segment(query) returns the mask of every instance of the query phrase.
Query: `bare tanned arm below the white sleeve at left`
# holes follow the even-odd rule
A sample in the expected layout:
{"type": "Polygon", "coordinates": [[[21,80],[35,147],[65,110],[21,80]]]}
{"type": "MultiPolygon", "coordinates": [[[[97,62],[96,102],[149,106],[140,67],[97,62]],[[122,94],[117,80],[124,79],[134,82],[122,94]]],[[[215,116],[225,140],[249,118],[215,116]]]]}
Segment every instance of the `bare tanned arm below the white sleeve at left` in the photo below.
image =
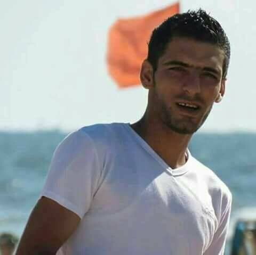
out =
{"type": "Polygon", "coordinates": [[[74,212],[43,196],[31,212],[15,255],[55,255],[79,221],[74,212]]]}

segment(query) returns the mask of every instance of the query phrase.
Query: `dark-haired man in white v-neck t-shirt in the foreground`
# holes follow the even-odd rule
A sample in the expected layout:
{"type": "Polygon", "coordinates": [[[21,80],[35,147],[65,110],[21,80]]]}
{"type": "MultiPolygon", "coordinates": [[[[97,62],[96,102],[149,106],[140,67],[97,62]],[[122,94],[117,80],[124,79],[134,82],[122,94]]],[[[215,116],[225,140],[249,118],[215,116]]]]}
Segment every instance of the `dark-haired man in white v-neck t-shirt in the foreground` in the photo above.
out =
{"type": "Polygon", "coordinates": [[[64,139],[17,255],[223,254],[231,193],[188,144],[225,93],[229,57],[203,10],[157,27],[140,74],[145,114],[64,139]]]}

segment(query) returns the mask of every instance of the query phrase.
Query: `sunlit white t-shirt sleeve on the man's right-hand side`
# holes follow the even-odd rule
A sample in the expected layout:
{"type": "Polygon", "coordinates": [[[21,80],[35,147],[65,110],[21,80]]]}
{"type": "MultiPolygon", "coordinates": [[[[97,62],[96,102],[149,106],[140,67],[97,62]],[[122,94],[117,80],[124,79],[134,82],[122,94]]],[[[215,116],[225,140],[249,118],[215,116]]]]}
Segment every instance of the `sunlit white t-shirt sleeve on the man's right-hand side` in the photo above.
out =
{"type": "Polygon", "coordinates": [[[231,212],[231,193],[226,196],[226,201],[222,201],[226,206],[224,207],[223,213],[221,215],[217,231],[213,236],[213,240],[204,252],[204,255],[223,255],[225,252],[225,245],[228,235],[230,212],[231,212]]]}

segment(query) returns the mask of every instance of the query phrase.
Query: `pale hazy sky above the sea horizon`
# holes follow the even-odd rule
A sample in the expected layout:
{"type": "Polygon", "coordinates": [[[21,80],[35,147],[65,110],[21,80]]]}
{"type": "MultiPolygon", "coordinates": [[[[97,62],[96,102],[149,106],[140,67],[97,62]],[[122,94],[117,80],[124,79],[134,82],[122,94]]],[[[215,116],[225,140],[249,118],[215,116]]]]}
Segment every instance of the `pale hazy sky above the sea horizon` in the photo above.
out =
{"type": "MultiPolygon", "coordinates": [[[[134,122],[146,109],[142,86],[119,89],[108,75],[108,31],[118,18],[176,1],[0,0],[0,130],[72,131],[134,122]]],[[[256,131],[254,0],[181,0],[225,29],[231,61],[223,101],[200,131],[256,131]]]]}

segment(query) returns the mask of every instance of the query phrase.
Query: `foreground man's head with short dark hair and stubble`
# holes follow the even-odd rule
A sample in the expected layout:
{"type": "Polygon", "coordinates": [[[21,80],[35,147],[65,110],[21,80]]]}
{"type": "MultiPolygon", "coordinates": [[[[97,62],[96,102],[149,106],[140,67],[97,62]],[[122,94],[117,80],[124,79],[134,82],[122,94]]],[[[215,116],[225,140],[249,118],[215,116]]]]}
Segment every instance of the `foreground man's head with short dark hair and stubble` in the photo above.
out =
{"type": "Polygon", "coordinates": [[[225,93],[228,38],[204,11],[177,14],[157,27],[142,63],[147,111],[176,133],[193,134],[225,93]]]}

